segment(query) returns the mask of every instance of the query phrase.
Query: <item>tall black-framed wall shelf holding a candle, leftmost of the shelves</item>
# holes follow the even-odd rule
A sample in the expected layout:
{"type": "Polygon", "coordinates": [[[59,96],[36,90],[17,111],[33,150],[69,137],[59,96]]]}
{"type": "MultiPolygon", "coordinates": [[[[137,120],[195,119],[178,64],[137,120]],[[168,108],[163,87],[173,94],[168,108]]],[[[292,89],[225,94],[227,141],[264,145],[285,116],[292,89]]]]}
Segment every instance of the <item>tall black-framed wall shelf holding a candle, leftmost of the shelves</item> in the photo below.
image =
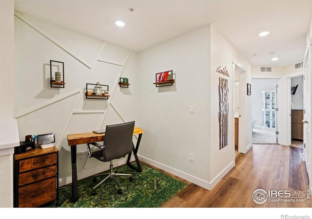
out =
{"type": "Polygon", "coordinates": [[[51,88],[65,88],[64,62],[50,60],[50,86],[51,88]]]}

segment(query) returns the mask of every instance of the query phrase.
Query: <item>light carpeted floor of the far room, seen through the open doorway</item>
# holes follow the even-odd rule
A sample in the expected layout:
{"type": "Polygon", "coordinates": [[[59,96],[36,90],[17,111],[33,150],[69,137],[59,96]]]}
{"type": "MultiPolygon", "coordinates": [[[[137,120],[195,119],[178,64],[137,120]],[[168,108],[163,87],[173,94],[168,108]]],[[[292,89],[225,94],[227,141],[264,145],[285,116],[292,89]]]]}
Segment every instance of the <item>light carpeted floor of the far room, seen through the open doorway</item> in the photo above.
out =
{"type": "Polygon", "coordinates": [[[276,144],[275,130],[253,128],[253,144],[276,144]]]}

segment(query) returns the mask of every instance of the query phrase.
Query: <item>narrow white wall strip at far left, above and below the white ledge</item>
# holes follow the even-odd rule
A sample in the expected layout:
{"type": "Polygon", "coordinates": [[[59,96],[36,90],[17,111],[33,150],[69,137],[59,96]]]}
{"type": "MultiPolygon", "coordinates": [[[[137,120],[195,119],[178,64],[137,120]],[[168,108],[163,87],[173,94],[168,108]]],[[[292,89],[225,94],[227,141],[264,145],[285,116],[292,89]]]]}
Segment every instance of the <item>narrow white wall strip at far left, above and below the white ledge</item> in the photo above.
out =
{"type": "MultiPolygon", "coordinates": [[[[14,1],[11,0],[0,1],[0,48],[0,120],[13,120],[14,1]]],[[[0,207],[13,207],[13,148],[9,149],[0,148],[0,207]]]]}

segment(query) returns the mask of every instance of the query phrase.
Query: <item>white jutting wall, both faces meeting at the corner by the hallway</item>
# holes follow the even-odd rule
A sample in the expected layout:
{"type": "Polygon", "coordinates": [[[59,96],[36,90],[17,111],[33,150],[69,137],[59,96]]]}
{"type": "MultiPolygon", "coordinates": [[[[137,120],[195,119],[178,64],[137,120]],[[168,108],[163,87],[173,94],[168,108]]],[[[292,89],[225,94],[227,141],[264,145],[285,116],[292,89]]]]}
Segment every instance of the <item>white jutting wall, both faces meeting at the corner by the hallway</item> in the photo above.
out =
{"type": "MultiPolygon", "coordinates": [[[[175,37],[139,53],[141,123],[147,132],[139,155],[193,183],[211,189],[234,166],[234,73],[236,62],[251,83],[251,65],[211,25],[175,37]],[[229,145],[219,150],[219,66],[228,67],[229,145]],[[155,73],[173,70],[176,84],[155,88],[155,73]],[[146,83],[150,81],[150,83],[146,83]],[[209,86],[207,86],[207,84],[209,86]],[[189,113],[189,106],[195,113],[189,113]],[[152,113],[151,113],[152,112],[152,113]],[[189,161],[189,153],[195,162],[189,161]],[[201,166],[202,168],[198,168],[201,166]]],[[[251,97],[243,101],[245,148],[252,145],[251,97]]]]}

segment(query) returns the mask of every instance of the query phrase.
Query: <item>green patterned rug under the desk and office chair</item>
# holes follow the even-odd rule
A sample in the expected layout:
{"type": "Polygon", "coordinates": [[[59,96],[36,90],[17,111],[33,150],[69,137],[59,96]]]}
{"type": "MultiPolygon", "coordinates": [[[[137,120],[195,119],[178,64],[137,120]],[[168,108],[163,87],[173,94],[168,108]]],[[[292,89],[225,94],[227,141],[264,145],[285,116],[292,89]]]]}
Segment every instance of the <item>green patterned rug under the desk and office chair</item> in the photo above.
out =
{"type": "MultiPolygon", "coordinates": [[[[133,174],[132,182],[129,181],[129,177],[117,176],[123,192],[121,195],[117,193],[118,188],[112,178],[96,188],[97,194],[95,196],[91,194],[93,186],[100,182],[102,177],[98,177],[96,183],[93,182],[93,177],[78,181],[79,200],[76,203],[71,201],[72,186],[60,188],[60,207],[161,207],[188,186],[187,183],[146,165],[141,164],[141,167],[141,173],[126,165],[117,169],[119,173],[133,174]]],[[[43,207],[57,207],[56,201],[43,207]]]]}

